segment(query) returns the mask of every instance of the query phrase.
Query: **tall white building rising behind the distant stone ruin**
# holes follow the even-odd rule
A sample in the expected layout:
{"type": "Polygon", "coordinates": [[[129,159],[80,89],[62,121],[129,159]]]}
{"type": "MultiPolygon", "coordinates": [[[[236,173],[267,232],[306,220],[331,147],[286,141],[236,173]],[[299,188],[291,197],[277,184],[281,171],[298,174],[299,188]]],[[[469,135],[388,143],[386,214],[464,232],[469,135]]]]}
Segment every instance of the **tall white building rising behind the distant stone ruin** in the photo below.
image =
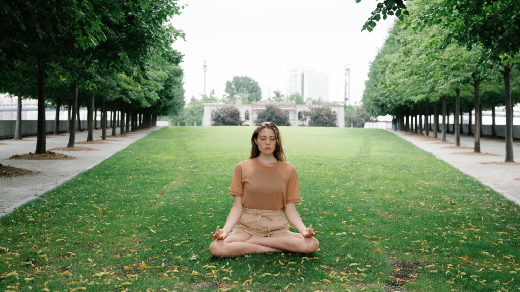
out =
{"type": "Polygon", "coordinates": [[[287,95],[298,92],[304,99],[329,100],[329,74],[315,69],[292,65],[287,73],[287,95]]]}

